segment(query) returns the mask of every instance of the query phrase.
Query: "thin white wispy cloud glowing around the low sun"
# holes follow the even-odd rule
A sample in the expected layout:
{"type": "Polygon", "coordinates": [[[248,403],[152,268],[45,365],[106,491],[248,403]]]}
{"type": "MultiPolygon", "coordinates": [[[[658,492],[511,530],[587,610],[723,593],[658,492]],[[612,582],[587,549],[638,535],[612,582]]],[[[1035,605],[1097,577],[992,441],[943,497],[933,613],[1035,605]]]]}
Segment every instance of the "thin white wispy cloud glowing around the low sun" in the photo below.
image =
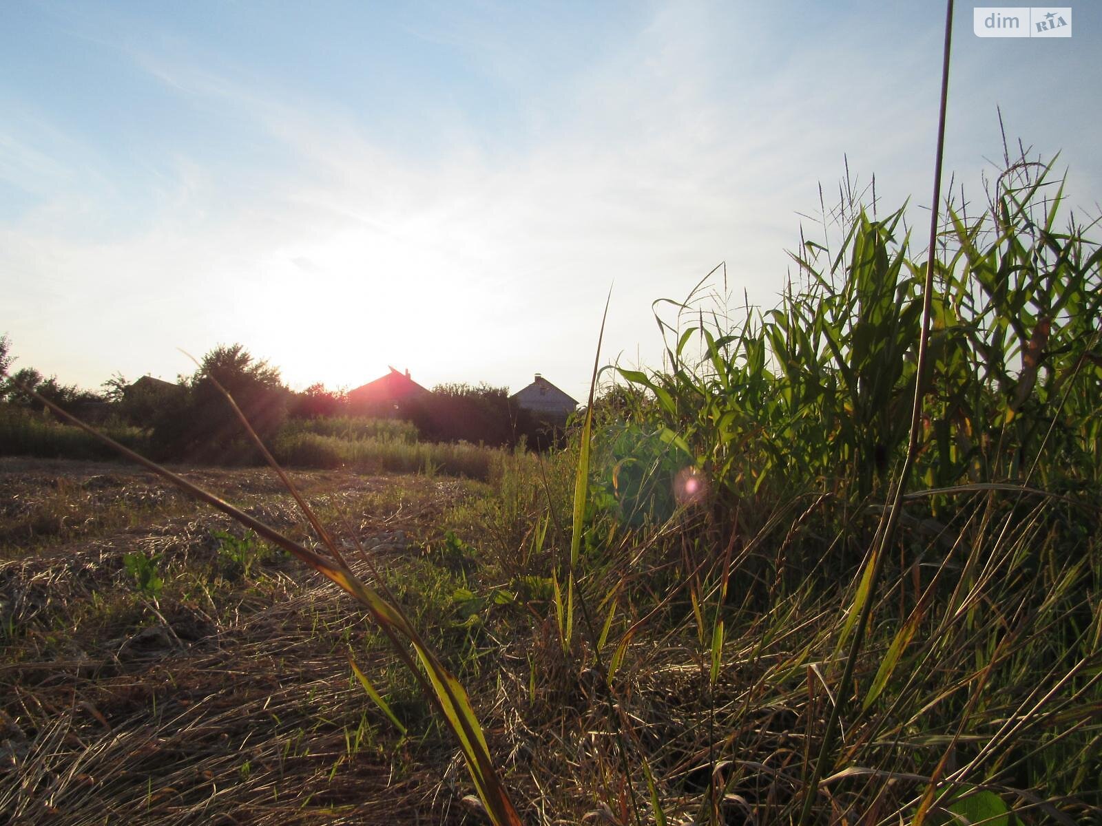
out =
{"type": "MultiPolygon", "coordinates": [[[[529,96],[509,135],[489,134],[472,109],[409,145],[380,135],[370,112],[186,43],[120,44],[260,151],[229,165],[186,145],[159,157],[140,231],[79,239],[41,218],[0,225],[0,267],[42,285],[15,296],[12,336],[58,372],[74,341],[96,343],[89,376],[171,374],[187,369],[176,346],[241,340],[300,384],[354,384],[401,362],[428,383],[517,385],[541,370],[577,395],[615,281],[608,357],[653,363],[650,303],[682,297],[719,261],[739,295],[774,302],[797,213],[818,206],[817,183],[841,174],[843,152],[864,177],[877,173],[888,204],[926,188],[932,132],[916,122],[929,123],[936,95],[936,29],[839,55],[776,23],[767,37],[732,35],[737,13],[656,7],[599,53],[566,50],[584,63],[561,73],[482,22],[422,26],[418,36],[447,40],[529,96]]],[[[553,41],[539,50],[547,59],[553,41]]],[[[24,155],[24,166],[55,163],[24,155]]],[[[78,224],[71,192],[45,186],[47,200],[52,191],[37,215],[78,224]]]]}

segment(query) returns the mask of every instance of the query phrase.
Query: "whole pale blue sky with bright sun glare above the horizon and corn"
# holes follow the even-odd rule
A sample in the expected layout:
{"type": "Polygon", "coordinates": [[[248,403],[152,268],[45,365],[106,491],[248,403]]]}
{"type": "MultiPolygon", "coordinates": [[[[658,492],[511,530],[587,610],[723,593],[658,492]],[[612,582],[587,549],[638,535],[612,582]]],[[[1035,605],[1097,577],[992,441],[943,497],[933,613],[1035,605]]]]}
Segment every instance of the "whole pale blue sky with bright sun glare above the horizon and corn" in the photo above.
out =
{"type": "MultiPolygon", "coordinates": [[[[968,196],[998,107],[1099,214],[1102,7],[1072,11],[1070,39],[981,39],[958,4],[968,196]]],[[[584,400],[609,290],[602,363],[660,366],[652,303],[717,264],[774,306],[846,165],[928,220],[943,22],[927,0],[3,0],[0,334],[93,389],[241,343],[300,389],[392,365],[584,400]]]]}

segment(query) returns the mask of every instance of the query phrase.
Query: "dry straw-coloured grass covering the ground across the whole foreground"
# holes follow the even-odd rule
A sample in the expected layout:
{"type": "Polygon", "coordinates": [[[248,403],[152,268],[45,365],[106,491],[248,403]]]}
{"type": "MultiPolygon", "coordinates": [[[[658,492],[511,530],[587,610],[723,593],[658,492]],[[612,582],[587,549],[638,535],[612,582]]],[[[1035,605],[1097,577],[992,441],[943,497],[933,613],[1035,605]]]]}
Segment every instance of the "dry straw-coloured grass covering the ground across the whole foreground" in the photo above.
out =
{"type": "MultiPolygon", "coordinates": [[[[58,469],[76,480],[99,468],[50,467],[58,469]]],[[[285,494],[259,471],[198,472],[296,530],[285,494]]],[[[587,557],[580,594],[598,617],[616,606],[605,667],[625,641],[609,682],[584,626],[562,649],[532,572],[561,558],[569,535],[552,524],[536,540],[539,497],[523,494],[521,480],[498,489],[339,472],[296,480],[339,542],[350,534],[338,506],[350,515],[403,608],[468,687],[527,822],[628,824],[638,811],[653,823],[644,767],[667,823],[792,817],[831,707],[838,606],[852,582],[830,572],[860,565],[836,552],[821,561],[824,576],[801,567],[825,514],[807,502],[758,514],[761,528],[741,535],[730,559],[685,544],[704,526],[689,514],[620,534],[607,556],[587,557]],[[485,530],[486,553],[466,544],[495,521],[512,532],[485,530]],[[449,525],[465,542],[442,541],[449,525]],[[724,565],[733,572],[727,633],[713,683],[691,596],[706,626],[724,565]]],[[[858,699],[921,590],[941,590],[939,607],[885,696],[867,710],[858,702],[843,720],[838,768],[847,771],[825,772],[819,822],[887,823],[912,811],[943,753],[950,771],[977,761],[962,780],[994,790],[1027,823],[1089,823],[1102,812],[1096,783],[1074,776],[1099,765],[1099,619],[1083,615],[1078,640],[1058,635],[1085,607],[1076,585],[1083,564],[1060,558],[1051,503],[1022,510],[985,499],[934,539],[929,523],[905,523],[926,551],[889,566],[882,620],[855,670],[858,699]],[[969,568],[975,576],[958,586],[969,568]],[[981,650],[995,654],[986,675],[981,650]],[[987,680],[982,695],[977,680],[987,680]],[[970,696],[983,706],[964,714],[970,696]],[[1046,763],[1047,781],[1037,773],[1046,763]],[[1078,791],[1061,797],[1042,782],[1078,791]]],[[[208,513],[154,519],[0,565],[4,610],[18,611],[0,665],[0,813],[26,824],[482,822],[463,803],[472,786],[457,750],[365,615],[278,556],[241,576],[212,540],[226,528],[208,513]],[[163,554],[155,599],[137,594],[121,565],[133,550],[163,554]],[[352,682],[349,645],[409,738],[352,682]]]]}

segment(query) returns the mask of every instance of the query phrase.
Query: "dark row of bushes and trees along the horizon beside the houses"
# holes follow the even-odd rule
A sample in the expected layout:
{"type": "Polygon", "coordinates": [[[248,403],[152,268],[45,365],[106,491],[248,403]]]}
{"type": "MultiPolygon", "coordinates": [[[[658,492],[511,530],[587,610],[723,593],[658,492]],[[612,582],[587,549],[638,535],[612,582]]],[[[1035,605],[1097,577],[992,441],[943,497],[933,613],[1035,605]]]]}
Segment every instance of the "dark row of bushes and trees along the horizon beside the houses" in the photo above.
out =
{"type": "MultiPolygon", "coordinates": [[[[0,336],[0,368],[14,358],[7,336],[0,336]]],[[[242,345],[219,345],[207,352],[190,376],[175,383],[128,381],[116,373],[90,391],[63,384],[31,367],[10,373],[0,384],[0,404],[9,411],[48,415],[41,402],[18,384],[33,389],[66,412],[143,428],[156,458],[193,461],[257,459],[245,430],[227,403],[224,388],[257,434],[272,439],[290,421],[348,416],[393,417],[411,422],[422,441],[543,448],[561,438],[561,424],[533,419],[509,399],[506,388],[486,383],[440,384],[431,393],[393,405],[354,405],[344,390],[314,383],[302,391],[288,388],[280,369],[256,358],[242,345]],[[18,384],[17,384],[18,382],[18,384]]]]}

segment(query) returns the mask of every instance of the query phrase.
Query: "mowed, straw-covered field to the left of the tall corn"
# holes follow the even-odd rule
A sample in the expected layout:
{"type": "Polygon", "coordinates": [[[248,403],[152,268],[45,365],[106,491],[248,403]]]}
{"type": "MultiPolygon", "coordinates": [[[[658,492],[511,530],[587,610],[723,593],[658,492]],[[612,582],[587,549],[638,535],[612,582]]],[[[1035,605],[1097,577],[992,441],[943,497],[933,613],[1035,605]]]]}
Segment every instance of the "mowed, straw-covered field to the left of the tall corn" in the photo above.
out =
{"type": "MultiPolygon", "coordinates": [[[[187,476],[294,531],[266,471],[187,476]]],[[[447,478],[295,479],[398,577],[435,567],[441,514],[477,496],[447,478]]],[[[374,632],[334,588],[122,465],[2,459],[0,491],[3,819],[434,820],[454,805],[424,771],[431,754],[378,733],[346,655],[376,664],[374,632]]],[[[421,713],[415,695],[406,705],[421,713]]]]}

